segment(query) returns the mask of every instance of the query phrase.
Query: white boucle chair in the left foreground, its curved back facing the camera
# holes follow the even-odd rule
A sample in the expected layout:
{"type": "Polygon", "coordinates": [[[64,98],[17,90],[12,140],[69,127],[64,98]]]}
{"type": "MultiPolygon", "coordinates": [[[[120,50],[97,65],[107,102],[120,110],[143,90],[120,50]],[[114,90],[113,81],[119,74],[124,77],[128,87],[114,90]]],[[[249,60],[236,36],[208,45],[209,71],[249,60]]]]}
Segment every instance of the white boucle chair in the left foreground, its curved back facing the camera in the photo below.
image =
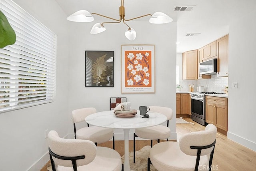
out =
{"type": "Polygon", "coordinates": [[[90,140],[60,138],[52,130],[48,133],[48,143],[52,171],[123,170],[118,152],[108,147],[96,147],[90,140]]]}

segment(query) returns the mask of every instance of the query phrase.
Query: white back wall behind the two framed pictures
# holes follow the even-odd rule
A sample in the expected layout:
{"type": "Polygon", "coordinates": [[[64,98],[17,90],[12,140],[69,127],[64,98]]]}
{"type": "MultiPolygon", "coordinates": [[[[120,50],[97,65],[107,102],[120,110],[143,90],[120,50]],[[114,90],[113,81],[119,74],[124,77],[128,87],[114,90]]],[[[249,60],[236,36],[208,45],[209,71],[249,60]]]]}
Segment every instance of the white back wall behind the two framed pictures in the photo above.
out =
{"type": "MultiPolygon", "coordinates": [[[[97,21],[99,22],[99,21],[97,21]]],[[[176,22],[150,24],[149,22],[129,22],[137,32],[134,41],[125,38],[127,27],[120,24],[105,24],[106,31],[91,35],[90,29],[96,22],[71,23],[69,112],[81,107],[95,107],[97,111],[110,110],[110,97],[127,97],[132,108],[140,105],[160,105],[171,107],[176,113],[176,22]],[[154,44],[156,93],[121,94],[121,45],[154,44]],[[85,87],[85,51],[114,50],[114,87],[85,87]]],[[[70,115],[71,116],[71,115],[70,115]]],[[[176,139],[175,119],[170,123],[172,138],[176,139]]],[[[134,131],[130,131],[130,135],[134,131]]],[[[70,134],[73,127],[70,125],[70,134]]],[[[115,139],[123,139],[122,130],[115,130],[115,139]]]]}

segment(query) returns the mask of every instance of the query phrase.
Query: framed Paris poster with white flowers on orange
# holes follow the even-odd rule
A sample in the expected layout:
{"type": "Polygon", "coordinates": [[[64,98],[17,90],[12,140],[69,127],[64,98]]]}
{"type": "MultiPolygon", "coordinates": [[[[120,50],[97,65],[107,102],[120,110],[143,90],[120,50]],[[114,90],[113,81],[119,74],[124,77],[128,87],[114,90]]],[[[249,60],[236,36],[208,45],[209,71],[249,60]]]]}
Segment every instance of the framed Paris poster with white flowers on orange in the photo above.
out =
{"type": "Polygon", "coordinates": [[[121,45],[122,93],[155,93],[155,46],[121,45]]]}

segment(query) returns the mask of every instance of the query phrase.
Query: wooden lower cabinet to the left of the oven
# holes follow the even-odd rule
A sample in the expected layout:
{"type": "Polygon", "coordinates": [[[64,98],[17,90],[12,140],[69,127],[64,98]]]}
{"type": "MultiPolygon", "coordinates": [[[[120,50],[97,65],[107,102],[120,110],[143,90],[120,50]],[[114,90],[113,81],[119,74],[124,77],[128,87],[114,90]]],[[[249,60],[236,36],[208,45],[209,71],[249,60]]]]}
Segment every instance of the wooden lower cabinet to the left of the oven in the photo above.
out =
{"type": "Polygon", "coordinates": [[[176,93],[176,115],[188,115],[191,113],[189,98],[189,93],[176,93]]]}

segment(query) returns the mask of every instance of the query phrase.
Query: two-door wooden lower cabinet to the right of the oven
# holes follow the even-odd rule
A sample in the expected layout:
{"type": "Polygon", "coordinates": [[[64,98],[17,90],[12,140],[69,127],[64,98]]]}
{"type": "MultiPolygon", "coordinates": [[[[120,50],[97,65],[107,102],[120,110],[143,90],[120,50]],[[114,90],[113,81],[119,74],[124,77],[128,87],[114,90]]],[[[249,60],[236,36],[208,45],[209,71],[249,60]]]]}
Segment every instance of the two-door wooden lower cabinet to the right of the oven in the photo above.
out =
{"type": "Polygon", "coordinates": [[[228,98],[206,96],[206,122],[228,131],[228,98]]]}

